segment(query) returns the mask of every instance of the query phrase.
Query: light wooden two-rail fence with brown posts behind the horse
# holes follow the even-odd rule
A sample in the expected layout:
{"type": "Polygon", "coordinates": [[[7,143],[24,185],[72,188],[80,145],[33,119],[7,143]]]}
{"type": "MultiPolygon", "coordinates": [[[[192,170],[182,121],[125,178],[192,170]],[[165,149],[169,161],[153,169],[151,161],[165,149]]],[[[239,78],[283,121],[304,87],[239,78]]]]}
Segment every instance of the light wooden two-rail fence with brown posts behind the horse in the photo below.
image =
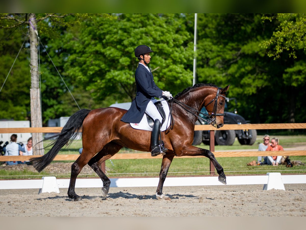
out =
{"type": "MultiPolygon", "coordinates": [[[[0,133],[26,133],[26,132],[42,132],[42,133],[56,133],[61,132],[63,127],[42,127],[42,128],[0,128],[0,133]]],[[[215,128],[212,125],[195,125],[195,131],[197,130],[210,130],[210,151],[212,151],[215,157],[244,157],[244,156],[267,156],[267,155],[279,155],[279,151],[270,151],[265,153],[264,151],[215,151],[215,130],[241,130],[241,129],[304,129],[306,128],[306,123],[284,123],[284,124],[241,124],[241,125],[228,125],[225,124],[221,128],[215,128]]],[[[297,151],[284,151],[282,155],[288,156],[305,156],[306,150],[297,151]]],[[[54,160],[76,160],[79,155],[57,155],[54,160]]],[[[0,161],[24,161],[31,157],[39,157],[39,155],[34,156],[0,156],[0,161]]],[[[190,157],[202,157],[202,156],[182,156],[181,158],[190,157]]],[[[155,157],[162,158],[161,155],[155,157]]],[[[152,159],[151,153],[117,153],[112,156],[111,159],[152,159]]],[[[105,162],[101,166],[105,171],[105,162]]],[[[215,174],[215,168],[212,163],[210,163],[211,174],[215,174]]]]}

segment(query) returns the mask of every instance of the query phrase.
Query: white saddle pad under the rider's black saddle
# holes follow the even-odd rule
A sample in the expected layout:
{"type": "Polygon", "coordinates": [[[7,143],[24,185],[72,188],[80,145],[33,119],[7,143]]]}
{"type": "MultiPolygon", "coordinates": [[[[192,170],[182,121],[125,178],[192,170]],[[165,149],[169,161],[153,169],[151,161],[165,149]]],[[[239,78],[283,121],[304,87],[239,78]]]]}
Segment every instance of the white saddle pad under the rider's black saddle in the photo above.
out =
{"type": "MultiPolygon", "coordinates": [[[[166,100],[155,102],[155,104],[156,103],[161,104],[162,109],[165,112],[165,114],[162,114],[162,112],[160,112],[161,115],[162,115],[162,119],[164,121],[162,123],[161,127],[160,127],[160,131],[165,131],[170,125],[169,105],[168,105],[168,102],[166,100]]],[[[160,109],[158,107],[157,107],[157,109],[160,111],[160,109]]],[[[130,123],[132,128],[141,129],[141,130],[148,130],[148,131],[152,131],[153,124],[154,124],[154,121],[151,119],[151,117],[147,116],[146,113],[144,114],[144,116],[142,117],[142,119],[139,123],[130,123]]]]}

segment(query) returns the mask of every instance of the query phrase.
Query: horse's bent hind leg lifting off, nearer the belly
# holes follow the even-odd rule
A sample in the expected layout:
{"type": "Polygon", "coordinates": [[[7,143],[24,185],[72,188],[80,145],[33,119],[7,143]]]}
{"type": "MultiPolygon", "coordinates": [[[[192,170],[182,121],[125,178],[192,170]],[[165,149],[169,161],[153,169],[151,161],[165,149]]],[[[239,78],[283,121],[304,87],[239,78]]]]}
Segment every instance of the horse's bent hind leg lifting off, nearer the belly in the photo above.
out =
{"type": "Polygon", "coordinates": [[[110,189],[110,179],[103,173],[99,166],[102,162],[115,155],[121,148],[122,145],[110,142],[88,162],[88,165],[98,174],[103,182],[103,187],[101,189],[103,197],[106,197],[110,189]]]}

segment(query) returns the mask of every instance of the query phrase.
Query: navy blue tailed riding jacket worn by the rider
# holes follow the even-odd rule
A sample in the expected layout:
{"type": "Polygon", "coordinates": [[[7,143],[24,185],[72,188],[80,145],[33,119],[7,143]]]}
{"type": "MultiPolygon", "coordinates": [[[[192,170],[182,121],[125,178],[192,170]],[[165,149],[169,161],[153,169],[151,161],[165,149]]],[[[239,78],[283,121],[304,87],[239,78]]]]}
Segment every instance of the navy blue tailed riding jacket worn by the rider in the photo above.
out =
{"type": "Polygon", "coordinates": [[[139,123],[144,116],[149,101],[155,97],[162,98],[162,90],[156,86],[152,73],[142,64],[139,64],[136,69],[135,82],[136,97],[129,110],[121,118],[121,121],[126,123],[139,123]]]}

